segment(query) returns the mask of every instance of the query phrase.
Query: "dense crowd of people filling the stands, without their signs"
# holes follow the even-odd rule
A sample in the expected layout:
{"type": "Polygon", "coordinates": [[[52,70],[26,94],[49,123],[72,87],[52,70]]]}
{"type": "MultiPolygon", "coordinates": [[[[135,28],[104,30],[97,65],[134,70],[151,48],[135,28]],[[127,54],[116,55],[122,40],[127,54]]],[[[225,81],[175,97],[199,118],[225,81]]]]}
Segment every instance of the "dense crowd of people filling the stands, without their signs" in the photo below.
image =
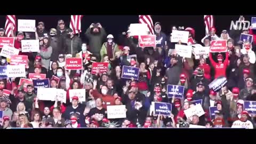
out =
{"type": "MultiPolygon", "coordinates": [[[[21,77],[0,79],[0,110],[2,129],[12,127],[236,127],[253,129],[256,116],[244,109],[244,101],[256,101],[255,85],[255,44],[256,31],[222,30],[202,39],[203,46],[211,41],[227,40],[227,52],[209,53],[209,58],[182,58],[175,51],[170,35],[161,30],[161,23],[154,25],[155,47],[139,47],[138,36],[126,32],[114,37],[106,34],[100,23],[92,23],[86,30],[86,41],[74,34],[63,20],[57,28],[47,31],[44,22],[38,22],[35,37],[31,33],[18,31],[14,47],[19,55],[28,56],[28,74],[46,74],[50,87],[67,92],[67,101],[46,101],[37,97],[33,84],[19,84],[21,77]],[[253,42],[240,41],[242,34],[253,35],[253,42]],[[21,52],[22,39],[39,39],[38,52],[21,52]],[[129,57],[130,56],[130,57],[129,57]],[[65,58],[78,57],[83,60],[82,70],[67,70],[65,58]],[[93,62],[108,62],[106,72],[99,68],[92,74],[93,62]],[[51,65],[50,65],[51,63],[51,65]],[[139,78],[122,78],[123,66],[139,68],[139,78]],[[58,77],[58,82],[55,78],[58,77]],[[217,92],[209,84],[218,77],[226,77],[227,84],[217,92]],[[183,99],[168,97],[167,85],[185,87],[183,99]],[[26,89],[25,89],[26,88],[26,89]],[[85,89],[85,101],[69,97],[69,91],[85,89]],[[4,90],[10,90],[6,95],[4,90]],[[71,99],[71,100],[70,100],[71,99]],[[194,107],[195,100],[202,99],[204,114],[187,118],[184,111],[194,107]],[[171,103],[171,115],[151,113],[151,102],[171,103]],[[108,118],[107,106],[125,105],[126,118],[108,118]],[[215,117],[211,118],[209,107],[217,107],[215,117]]],[[[83,23],[82,23],[83,25],[83,23]]],[[[191,27],[172,26],[171,31],[189,31],[195,41],[195,30],[191,27]]],[[[202,28],[204,30],[204,28],[202,28]]],[[[5,29],[0,29],[5,37],[5,29]]],[[[0,65],[9,65],[5,57],[0,65]]],[[[54,97],[54,96],[53,96],[54,97]]]]}

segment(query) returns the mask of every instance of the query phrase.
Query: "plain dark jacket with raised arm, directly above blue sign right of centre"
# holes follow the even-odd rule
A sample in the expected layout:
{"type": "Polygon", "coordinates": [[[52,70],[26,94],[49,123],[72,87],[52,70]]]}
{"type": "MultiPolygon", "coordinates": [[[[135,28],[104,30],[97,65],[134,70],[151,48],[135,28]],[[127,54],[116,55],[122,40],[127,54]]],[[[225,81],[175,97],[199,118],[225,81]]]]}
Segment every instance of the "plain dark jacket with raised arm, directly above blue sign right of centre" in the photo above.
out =
{"type": "Polygon", "coordinates": [[[175,85],[178,84],[180,79],[180,74],[182,70],[182,57],[178,58],[178,62],[166,69],[167,84],[175,85]]]}

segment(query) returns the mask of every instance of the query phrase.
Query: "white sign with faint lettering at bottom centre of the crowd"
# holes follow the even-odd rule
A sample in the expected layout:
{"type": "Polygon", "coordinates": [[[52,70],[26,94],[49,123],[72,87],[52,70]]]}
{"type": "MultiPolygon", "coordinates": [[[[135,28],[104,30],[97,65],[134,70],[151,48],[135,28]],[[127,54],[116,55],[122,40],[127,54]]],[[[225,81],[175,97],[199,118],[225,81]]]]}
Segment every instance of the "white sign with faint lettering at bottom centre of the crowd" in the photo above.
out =
{"type": "Polygon", "coordinates": [[[125,105],[107,106],[108,119],[126,118],[125,105]]]}

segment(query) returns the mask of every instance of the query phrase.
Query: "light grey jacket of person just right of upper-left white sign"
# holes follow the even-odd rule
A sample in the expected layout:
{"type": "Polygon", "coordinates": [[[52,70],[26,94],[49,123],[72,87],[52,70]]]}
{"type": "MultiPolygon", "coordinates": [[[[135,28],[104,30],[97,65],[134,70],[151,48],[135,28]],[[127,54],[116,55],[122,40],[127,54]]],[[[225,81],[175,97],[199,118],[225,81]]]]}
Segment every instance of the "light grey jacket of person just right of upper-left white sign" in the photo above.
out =
{"type": "Polygon", "coordinates": [[[46,69],[49,69],[52,55],[52,46],[49,46],[46,49],[41,48],[38,54],[42,57],[42,66],[46,69]]]}

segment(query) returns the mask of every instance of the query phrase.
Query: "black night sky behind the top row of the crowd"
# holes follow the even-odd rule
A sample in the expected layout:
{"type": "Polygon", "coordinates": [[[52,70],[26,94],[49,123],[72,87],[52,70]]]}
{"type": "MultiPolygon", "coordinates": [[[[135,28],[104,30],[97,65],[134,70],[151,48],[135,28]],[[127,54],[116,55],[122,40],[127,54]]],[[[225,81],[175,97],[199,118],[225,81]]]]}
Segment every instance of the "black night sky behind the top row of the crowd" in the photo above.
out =
{"type": "MultiPolygon", "coordinates": [[[[231,20],[238,20],[239,15],[213,15],[217,34],[223,29],[229,30],[231,20]]],[[[195,29],[196,41],[200,42],[205,36],[205,26],[203,15],[152,15],[153,22],[161,22],[162,31],[166,35],[170,34],[171,26],[192,27],[195,29]]],[[[245,20],[251,21],[252,15],[244,15],[245,20]]],[[[59,19],[65,21],[66,27],[69,27],[70,15],[17,15],[18,19],[35,19],[36,25],[39,21],[45,22],[45,29],[56,28],[59,19]]],[[[0,15],[0,28],[4,28],[5,15],[0,15]]],[[[123,31],[127,31],[127,26],[130,23],[138,23],[138,15],[84,15],[82,19],[82,34],[93,22],[100,22],[102,27],[107,31],[107,34],[113,34],[117,37],[123,31]]],[[[82,39],[84,36],[82,35],[82,39]]]]}

